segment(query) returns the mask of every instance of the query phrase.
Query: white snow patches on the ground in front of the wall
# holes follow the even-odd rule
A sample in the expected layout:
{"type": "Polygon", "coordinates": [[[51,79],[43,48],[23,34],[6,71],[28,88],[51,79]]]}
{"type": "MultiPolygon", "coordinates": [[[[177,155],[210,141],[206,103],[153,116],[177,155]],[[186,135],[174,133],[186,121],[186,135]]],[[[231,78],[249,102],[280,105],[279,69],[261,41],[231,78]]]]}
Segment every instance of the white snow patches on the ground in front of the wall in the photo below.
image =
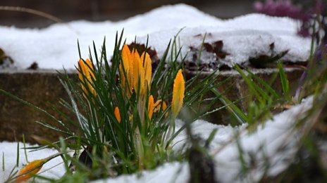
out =
{"type": "MultiPolygon", "coordinates": [[[[193,133],[203,139],[209,137],[212,130],[218,129],[214,140],[211,142],[209,152],[214,156],[216,165],[216,177],[219,182],[256,182],[264,174],[265,165],[269,166],[268,175],[276,175],[285,170],[297,151],[297,142],[300,132],[295,128],[297,120],[302,118],[306,111],[311,109],[313,97],[308,97],[302,104],[298,104],[291,109],[283,111],[280,114],[257,127],[257,130],[247,130],[247,125],[237,126],[218,126],[207,121],[198,120],[192,123],[193,133]],[[239,160],[239,150],[237,142],[244,152],[245,162],[249,163],[254,158],[257,166],[250,170],[247,177],[241,177],[241,164],[239,160]],[[283,147],[283,150],[280,148],[283,147]],[[266,162],[268,161],[268,162],[266,162]]],[[[177,127],[183,125],[183,121],[176,121],[177,127]]],[[[173,150],[178,151],[185,147],[187,136],[180,133],[173,141],[173,150]]],[[[0,170],[0,181],[8,177],[11,168],[16,165],[16,142],[0,142],[0,153],[4,152],[5,171],[0,170]]],[[[23,144],[20,144],[23,147],[23,144]]],[[[54,149],[43,149],[28,153],[30,161],[37,158],[44,158],[55,154],[54,149]]],[[[20,149],[20,168],[25,163],[23,149],[20,149]]],[[[51,160],[44,165],[43,170],[61,163],[60,158],[51,160]]],[[[2,160],[0,161],[2,165],[2,160]]],[[[63,165],[42,173],[44,176],[58,178],[64,173],[63,165]]],[[[187,182],[190,175],[188,164],[186,162],[165,163],[155,170],[145,170],[137,174],[121,175],[115,178],[97,180],[94,182],[187,182]]]]}

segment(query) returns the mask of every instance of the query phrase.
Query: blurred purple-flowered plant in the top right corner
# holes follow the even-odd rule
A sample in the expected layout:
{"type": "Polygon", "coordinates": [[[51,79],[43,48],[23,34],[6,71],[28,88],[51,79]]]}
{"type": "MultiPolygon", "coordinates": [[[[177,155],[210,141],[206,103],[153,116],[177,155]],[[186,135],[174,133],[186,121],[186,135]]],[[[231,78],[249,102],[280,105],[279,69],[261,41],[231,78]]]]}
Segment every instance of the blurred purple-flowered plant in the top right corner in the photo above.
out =
{"type": "Polygon", "coordinates": [[[303,72],[299,86],[295,93],[295,100],[300,96],[304,80],[307,78],[309,67],[316,67],[327,58],[327,15],[324,9],[327,9],[326,1],[310,0],[299,1],[300,4],[293,4],[290,0],[266,0],[265,2],[255,1],[254,10],[266,15],[289,17],[302,21],[302,26],[297,32],[300,36],[308,37],[316,41],[316,49],[308,62],[306,71],[303,72]],[[305,7],[306,9],[304,9],[305,7]]]}

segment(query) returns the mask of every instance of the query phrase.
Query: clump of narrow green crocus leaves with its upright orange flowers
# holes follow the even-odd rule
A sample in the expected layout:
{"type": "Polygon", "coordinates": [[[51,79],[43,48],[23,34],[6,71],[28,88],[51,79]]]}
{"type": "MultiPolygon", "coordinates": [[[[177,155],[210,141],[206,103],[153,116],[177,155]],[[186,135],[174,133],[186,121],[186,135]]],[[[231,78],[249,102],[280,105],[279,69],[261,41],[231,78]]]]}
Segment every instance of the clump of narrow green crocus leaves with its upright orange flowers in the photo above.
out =
{"type": "Polygon", "coordinates": [[[147,46],[139,54],[136,48],[123,44],[122,32],[121,36],[116,35],[113,56],[109,60],[105,41],[100,53],[93,45],[90,58],[83,60],[80,54],[76,66],[77,82],[66,72],[59,73],[70,98],[69,102],[60,102],[75,114],[76,121],[67,116],[63,118],[75,129],[68,128],[47,111],[1,90],[44,112],[59,127],[37,123],[68,136],[58,142],[45,143],[55,147],[63,158],[67,171],[63,180],[75,179],[72,171],[89,179],[115,177],[185,158],[182,151],[173,153],[171,142],[189,123],[208,114],[208,110],[197,111],[202,102],[214,103],[221,97],[204,98],[205,93],[215,88],[215,72],[204,79],[200,79],[200,72],[197,72],[197,75],[185,80],[184,57],[180,56],[175,39],[168,43],[154,70],[147,46]],[[182,61],[178,62],[180,58],[182,61]],[[182,108],[195,115],[176,131],[175,118],[182,108]],[[66,153],[68,148],[75,151],[73,156],[66,153]]]}

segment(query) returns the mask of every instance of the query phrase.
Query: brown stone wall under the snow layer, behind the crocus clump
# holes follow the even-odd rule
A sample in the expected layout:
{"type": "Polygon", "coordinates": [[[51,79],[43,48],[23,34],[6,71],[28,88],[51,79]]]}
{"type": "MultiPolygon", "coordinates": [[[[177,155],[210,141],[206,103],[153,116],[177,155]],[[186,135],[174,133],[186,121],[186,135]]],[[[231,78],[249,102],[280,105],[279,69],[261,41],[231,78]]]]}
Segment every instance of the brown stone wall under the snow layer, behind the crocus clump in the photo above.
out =
{"type": "MultiPolygon", "coordinates": [[[[277,69],[257,69],[254,72],[257,76],[266,81],[270,81],[271,77],[276,74],[277,69]]],[[[302,69],[288,69],[288,79],[291,84],[297,85],[297,81],[302,74],[302,69]]],[[[69,76],[77,79],[75,72],[70,72],[69,76]]],[[[188,73],[186,78],[190,78],[192,74],[188,73]]],[[[204,74],[203,76],[206,76],[204,74]]],[[[247,84],[243,81],[242,77],[236,72],[221,72],[218,76],[218,81],[221,82],[229,79],[228,82],[218,86],[218,89],[226,95],[229,100],[235,101],[248,95],[247,84]],[[228,89],[227,89],[228,88],[228,89]]],[[[278,81],[278,79],[276,80],[278,81]]],[[[0,88],[16,95],[27,102],[35,104],[56,118],[61,119],[70,128],[70,125],[65,118],[58,115],[51,105],[54,105],[61,111],[64,111],[73,121],[76,121],[75,116],[68,112],[65,107],[59,104],[58,100],[63,99],[69,102],[68,95],[63,86],[58,80],[58,75],[55,71],[50,70],[25,70],[25,71],[0,71],[0,88]]],[[[280,83],[273,83],[273,88],[281,92],[280,83]]],[[[220,102],[216,104],[216,108],[221,107],[220,102]]],[[[242,109],[247,107],[247,104],[240,106],[242,109]]],[[[221,110],[211,116],[207,116],[206,120],[211,123],[227,124],[230,122],[228,119],[228,111],[221,110]]],[[[47,122],[56,126],[54,120],[49,118],[41,111],[37,111],[33,107],[29,107],[23,102],[18,102],[11,97],[0,94],[0,141],[21,140],[24,134],[27,142],[35,142],[33,135],[45,138],[50,141],[58,140],[62,134],[56,133],[54,130],[45,128],[35,121],[47,122]]]]}

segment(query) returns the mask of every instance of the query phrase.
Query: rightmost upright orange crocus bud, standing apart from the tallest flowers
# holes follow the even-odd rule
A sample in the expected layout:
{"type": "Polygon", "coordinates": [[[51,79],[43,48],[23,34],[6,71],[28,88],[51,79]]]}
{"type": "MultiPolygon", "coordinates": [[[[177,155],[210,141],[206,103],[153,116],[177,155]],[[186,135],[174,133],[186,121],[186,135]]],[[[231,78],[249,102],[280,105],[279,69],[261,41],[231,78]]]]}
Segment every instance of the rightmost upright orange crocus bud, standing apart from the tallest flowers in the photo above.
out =
{"type": "Polygon", "coordinates": [[[185,93],[185,81],[182,74],[182,69],[179,69],[174,80],[173,100],[171,102],[171,110],[173,112],[174,118],[178,115],[180,109],[182,109],[183,107],[184,93],[185,93]]]}

